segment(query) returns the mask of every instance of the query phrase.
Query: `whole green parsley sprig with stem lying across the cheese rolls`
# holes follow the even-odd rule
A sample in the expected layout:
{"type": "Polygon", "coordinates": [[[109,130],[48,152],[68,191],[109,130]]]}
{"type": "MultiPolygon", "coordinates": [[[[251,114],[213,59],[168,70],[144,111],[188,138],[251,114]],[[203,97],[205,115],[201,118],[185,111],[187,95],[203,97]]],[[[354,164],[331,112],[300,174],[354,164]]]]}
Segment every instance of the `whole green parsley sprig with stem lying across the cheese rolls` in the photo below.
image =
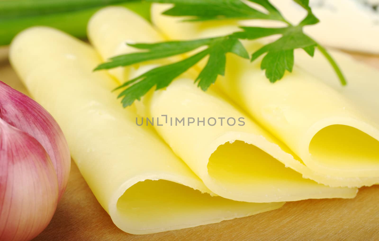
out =
{"type": "Polygon", "coordinates": [[[337,63],[327,51],[307,36],[302,28],[319,22],[309,7],[309,0],[294,0],[307,12],[307,16],[293,26],[268,0],[248,0],[256,3],[267,10],[263,13],[242,0],[147,0],[147,2],[172,3],[172,8],[163,14],[169,16],[185,16],[185,21],[207,21],[218,19],[264,19],[278,20],[287,24],[283,28],[241,27],[241,31],[219,36],[216,38],[196,39],[191,41],[168,41],[153,44],[128,44],[142,52],[129,53],[110,58],[108,62],[100,64],[95,70],[112,69],[119,66],[130,66],[155,59],[168,58],[182,55],[205,47],[204,50],[189,56],[176,63],[156,67],[138,77],[127,81],[117,89],[122,89],[119,98],[122,98],[124,107],[132,105],[135,100],[140,100],[151,88],[156,90],[170,85],[170,83],[199,61],[208,57],[207,64],[195,80],[198,86],[206,91],[215,83],[219,75],[225,74],[226,54],[233,53],[242,58],[249,59],[249,53],[241,44],[241,39],[254,40],[275,34],[281,37],[274,42],[264,45],[261,49],[252,53],[251,61],[266,54],[261,63],[261,69],[266,70],[266,77],[272,83],[283,78],[285,71],[292,72],[294,65],[294,50],[303,49],[310,56],[315,53],[317,47],[327,58],[337,73],[341,84],[346,85],[346,80],[337,63]]]}

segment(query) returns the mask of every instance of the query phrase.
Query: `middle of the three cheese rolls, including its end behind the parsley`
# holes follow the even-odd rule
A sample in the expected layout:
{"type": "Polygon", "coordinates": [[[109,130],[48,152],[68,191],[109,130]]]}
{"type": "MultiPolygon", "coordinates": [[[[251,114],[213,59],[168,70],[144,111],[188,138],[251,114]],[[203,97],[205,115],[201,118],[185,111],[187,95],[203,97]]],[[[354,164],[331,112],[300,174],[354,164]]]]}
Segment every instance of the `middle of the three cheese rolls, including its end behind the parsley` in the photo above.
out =
{"type": "MultiPolygon", "coordinates": [[[[162,39],[145,20],[116,7],[104,8],[92,17],[88,36],[104,59],[131,52],[128,47],[120,47],[125,42],[162,39]]],[[[146,68],[149,63],[113,74],[124,82],[146,68]]],[[[165,90],[150,92],[137,103],[137,109],[155,120],[155,130],[211,191],[247,202],[355,196],[354,188],[330,188],[286,168],[276,158],[298,161],[283,150],[283,144],[216,90],[204,92],[197,88],[193,79],[181,77],[165,90]]]]}

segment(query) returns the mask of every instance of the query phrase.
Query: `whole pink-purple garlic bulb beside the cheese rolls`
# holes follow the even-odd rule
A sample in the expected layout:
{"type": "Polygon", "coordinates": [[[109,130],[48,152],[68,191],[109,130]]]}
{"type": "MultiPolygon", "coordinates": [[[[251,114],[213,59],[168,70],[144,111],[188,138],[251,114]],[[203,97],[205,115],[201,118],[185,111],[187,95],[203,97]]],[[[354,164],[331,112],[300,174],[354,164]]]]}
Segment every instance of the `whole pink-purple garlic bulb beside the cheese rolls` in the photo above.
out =
{"type": "Polygon", "coordinates": [[[30,240],[53,217],[70,153],[53,117],[0,81],[0,240],[30,240]]]}

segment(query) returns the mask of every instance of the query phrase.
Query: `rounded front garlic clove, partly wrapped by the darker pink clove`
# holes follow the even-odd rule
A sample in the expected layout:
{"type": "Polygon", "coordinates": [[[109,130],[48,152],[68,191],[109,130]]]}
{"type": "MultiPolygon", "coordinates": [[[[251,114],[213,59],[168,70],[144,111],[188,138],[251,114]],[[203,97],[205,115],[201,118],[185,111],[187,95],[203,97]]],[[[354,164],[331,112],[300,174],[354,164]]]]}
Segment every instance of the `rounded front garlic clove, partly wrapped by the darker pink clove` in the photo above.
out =
{"type": "Polygon", "coordinates": [[[58,203],[58,179],[44,147],[0,118],[0,240],[30,240],[58,203]]]}

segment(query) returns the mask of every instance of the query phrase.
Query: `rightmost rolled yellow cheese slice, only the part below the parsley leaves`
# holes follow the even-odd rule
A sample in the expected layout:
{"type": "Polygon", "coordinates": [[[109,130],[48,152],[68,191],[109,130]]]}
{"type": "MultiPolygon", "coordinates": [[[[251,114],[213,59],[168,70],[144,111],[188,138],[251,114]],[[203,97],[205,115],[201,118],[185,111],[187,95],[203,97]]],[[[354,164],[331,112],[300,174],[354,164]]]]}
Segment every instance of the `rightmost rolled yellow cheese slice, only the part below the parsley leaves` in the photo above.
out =
{"type": "Polygon", "coordinates": [[[337,177],[330,182],[310,178],[331,186],[379,182],[379,131],[377,122],[363,112],[365,107],[299,68],[275,84],[266,80],[259,66],[234,56],[226,71],[218,82],[223,91],[309,169],[337,177]]]}

